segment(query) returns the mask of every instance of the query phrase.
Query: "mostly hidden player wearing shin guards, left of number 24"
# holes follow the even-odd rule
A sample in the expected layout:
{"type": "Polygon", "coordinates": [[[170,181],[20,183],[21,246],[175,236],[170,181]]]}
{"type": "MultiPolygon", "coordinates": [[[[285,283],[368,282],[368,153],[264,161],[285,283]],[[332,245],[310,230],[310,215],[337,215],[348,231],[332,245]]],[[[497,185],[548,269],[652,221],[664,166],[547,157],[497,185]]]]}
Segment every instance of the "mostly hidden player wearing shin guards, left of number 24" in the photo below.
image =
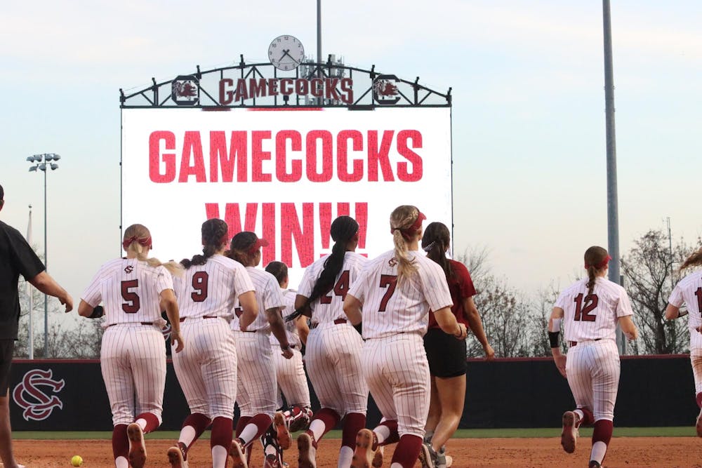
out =
{"type": "MultiPolygon", "coordinates": [[[[285,310],[295,309],[295,290],[288,287],[288,267],[283,262],[270,262],[265,271],[269,272],[278,281],[285,301],[285,310]]],[[[284,359],[279,352],[280,343],[271,335],[270,345],[273,348],[273,360],[275,361],[275,377],[278,382],[278,408],[283,408],[282,396],[288,406],[288,410],[279,411],[273,417],[273,424],[280,427],[286,424],[289,432],[297,432],[307,429],[312,419],[312,405],[310,403],[310,387],[307,387],[307,375],[303,366],[303,355],[300,352],[307,342],[307,335],[310,327],[307,326],[307,317],[299,316],[294,321],[286,322],[288,332],[288,342],[293,349],[292,359],[284,359]]]]}

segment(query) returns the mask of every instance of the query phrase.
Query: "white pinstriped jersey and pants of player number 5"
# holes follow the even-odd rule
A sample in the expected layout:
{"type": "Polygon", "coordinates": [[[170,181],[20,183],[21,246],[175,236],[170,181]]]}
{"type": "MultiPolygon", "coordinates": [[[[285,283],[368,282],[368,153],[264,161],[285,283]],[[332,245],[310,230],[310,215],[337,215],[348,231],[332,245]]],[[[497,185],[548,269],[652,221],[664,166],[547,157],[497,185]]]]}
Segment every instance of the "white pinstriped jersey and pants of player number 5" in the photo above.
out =
{"type": "Polygon", "coordinates": [[[102,301],[105,308],[100,368],[115,426],[130,424],[135,415],[146,412],[161,422],[166,387],[161,328],[166,321],[159,294],[166,289],[173,289],[166,268],[118,258],[100,267],[81,296],[91,307],[102,301]]]}

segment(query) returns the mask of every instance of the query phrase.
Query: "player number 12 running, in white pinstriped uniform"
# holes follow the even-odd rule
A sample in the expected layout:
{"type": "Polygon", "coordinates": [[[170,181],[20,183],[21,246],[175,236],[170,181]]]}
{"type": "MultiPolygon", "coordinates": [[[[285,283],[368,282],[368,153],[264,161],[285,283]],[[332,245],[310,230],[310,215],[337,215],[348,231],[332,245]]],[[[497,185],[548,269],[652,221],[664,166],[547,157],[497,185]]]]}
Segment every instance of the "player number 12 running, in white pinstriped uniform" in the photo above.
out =
{"type": "Polygon", "coordinates": [[[588,278],[576,281],[559,295],[548,321],[553,360],[568,379],[576,403],[575,410],[563,414],[561,445],[567,453],[573,453],[578,427],[594,423],[590,468],[601,466],[612,436],[619,386],[617,323],[629,340],[638,335],[624,288],[605,278],[609,260],[602,247],[585,250],[588,278]],[[569,345],[568,359],[558,343],[561,323],[569,345]]]}

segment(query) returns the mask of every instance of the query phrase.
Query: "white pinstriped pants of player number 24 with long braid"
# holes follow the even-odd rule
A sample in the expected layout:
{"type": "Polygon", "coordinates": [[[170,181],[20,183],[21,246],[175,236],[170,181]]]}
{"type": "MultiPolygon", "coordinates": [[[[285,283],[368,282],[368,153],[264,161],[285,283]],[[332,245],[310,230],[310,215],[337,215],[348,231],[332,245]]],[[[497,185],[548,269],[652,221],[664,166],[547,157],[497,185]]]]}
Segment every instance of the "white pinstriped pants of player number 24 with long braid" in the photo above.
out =
{"type": "Polygon", "coordinates": [[[322,408],[331,408],[341,417],[348,413],[364,415],[368,408],[362,347],[361,335],[347,323],[325,323],[307,335],[305,363],[314,392],[322,408]]]}

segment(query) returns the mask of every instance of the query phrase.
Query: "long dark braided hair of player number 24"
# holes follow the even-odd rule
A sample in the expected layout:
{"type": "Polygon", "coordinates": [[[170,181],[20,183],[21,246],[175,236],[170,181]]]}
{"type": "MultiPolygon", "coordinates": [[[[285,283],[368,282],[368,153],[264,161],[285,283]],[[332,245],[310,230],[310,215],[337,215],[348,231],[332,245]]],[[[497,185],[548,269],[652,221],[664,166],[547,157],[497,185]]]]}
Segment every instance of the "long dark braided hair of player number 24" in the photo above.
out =
{"type": "Polygon", "coordinates": [[[286,316],[286,321],[294,320],[302,315],[303,311],[310,307],[312,302],[329,293],[331,288],[334,287],[334,280],[336,280],[336,276],[344,266],[346,246],[358,234],[358,227],[356,220],[350,216],[339,216],[331,223],[329,234],[331,234],[331,240],[334,241],[331,254],[324,260],[324,269],[322,269],[322,273],[319,274],[319,278],[314,283],[310,297],[307,297],[307,300],[305,300],[305,305],[286,316]]]}

